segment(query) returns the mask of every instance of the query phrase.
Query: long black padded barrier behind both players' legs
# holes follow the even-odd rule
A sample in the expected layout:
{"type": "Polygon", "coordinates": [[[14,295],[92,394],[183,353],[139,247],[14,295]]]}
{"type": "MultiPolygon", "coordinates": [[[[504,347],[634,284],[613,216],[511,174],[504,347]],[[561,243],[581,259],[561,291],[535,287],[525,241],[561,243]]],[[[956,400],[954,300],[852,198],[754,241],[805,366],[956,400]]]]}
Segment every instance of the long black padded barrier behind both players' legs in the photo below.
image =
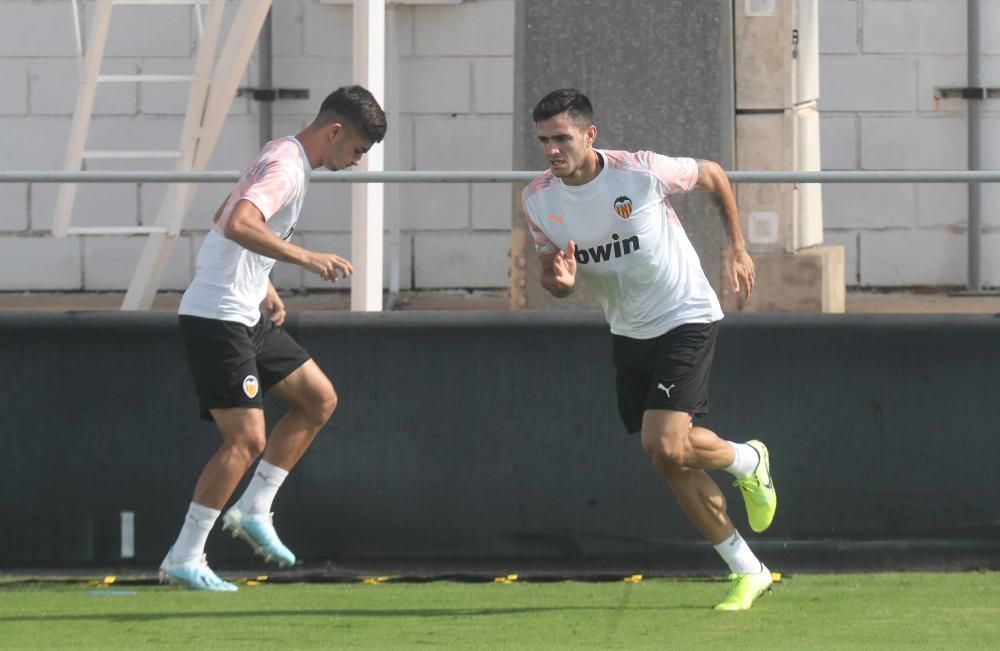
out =
{"type": "MultiPolygon", "coordinates": [[[[715,567],[618,421],[596,315],[302,313],[340,405],[275,503],[307,563],[715,567]]],[[[1000,566],[1000,319],[732,315],[703,424],[769,446],[769,564],[1000,566]]],[[[218,437],[176,317],[0,313],[0,557],[136,563],[173,541],[218,437]]],[[[269,423],[283,406],[267,404],[269,423]]],[[[242,487],[241,487],[242,488],[242,487]]],[[[248,558],[217,530],[209,554],[248,558]]]]}

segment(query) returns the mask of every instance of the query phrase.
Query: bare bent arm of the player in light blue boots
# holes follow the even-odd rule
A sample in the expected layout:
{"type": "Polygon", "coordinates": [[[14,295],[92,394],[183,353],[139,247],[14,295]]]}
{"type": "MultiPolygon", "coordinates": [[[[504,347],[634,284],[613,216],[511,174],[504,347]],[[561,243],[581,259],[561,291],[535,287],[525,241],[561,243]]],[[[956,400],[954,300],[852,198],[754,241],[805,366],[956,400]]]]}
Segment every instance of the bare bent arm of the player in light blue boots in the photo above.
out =
{"type": "Polygon", "coordinates": [[[351,263],[333,253],[317,253],[291,242],[286,242],[265,225],[264,213],[252,201],[240,199],[233,208],[229,221],[222,229],[227,240],[232,240],[254,253],[297,264],[323,280],[336,281],[354,273],[351,263]]]}

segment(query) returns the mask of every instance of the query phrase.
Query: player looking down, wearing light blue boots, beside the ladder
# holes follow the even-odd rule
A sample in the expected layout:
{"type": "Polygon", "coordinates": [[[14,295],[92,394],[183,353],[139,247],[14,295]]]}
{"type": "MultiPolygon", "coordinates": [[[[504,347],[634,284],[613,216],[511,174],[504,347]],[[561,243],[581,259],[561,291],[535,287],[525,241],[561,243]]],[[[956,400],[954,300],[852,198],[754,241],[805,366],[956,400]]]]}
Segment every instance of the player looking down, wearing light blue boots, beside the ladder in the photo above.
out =
{"type": "Polygon", "coordinates": [[[205,541],[258,457],[246,492],[222,516],[223,529],[267,561],[295,563],[295,554],[275,533],[271,504],[330,418],[337,394],[282,329],[285,306],[268,276],[276,260],[331,282],[351,275],[346,259],[288,240],[310,172],[321,165],[339,170],[357,164],[382,141],[385,130],[385,113],[370,92],[360,86],[338,88],[301,133],[264,146],[215,214],[178,319],[201,416],[215,421],[222,446],[198,479],[180,535],[160,565],[161,580],[196,590],[236,590],[209,568],[205,541]],[[268,390],[290,406],[270,437],[263,411],[268,390]]]}

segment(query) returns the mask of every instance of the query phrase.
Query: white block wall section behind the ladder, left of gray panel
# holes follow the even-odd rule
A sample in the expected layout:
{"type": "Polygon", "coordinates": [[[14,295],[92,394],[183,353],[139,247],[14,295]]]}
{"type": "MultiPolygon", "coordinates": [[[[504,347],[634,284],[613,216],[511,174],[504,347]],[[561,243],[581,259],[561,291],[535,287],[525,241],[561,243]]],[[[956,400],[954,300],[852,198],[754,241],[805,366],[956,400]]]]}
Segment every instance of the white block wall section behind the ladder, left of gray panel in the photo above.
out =
{"type": "MultiPolygon", "coordinates": [[[[235,4],[227,8],[227,21],[235,4]]],[[[83,0],[84,38],[93,2],[83,0]]],[[[274,134],[299,131],[323,97],[351,83],[352,9],[343,0],[276,0],[273,78],[281,88],[307,88],[307,100],[273,105],[274,134]]],[[[387,169],[510,169],[514,0],[394,4],[388,10],[396,62],[387,62],[386,110],[394,121],[384,143],[387,169]]],[[[227,22],[228,24],[228,22],[227,22]]],[[[191,72],[196,27],[185,7],[115,7],[103,72],[191,72]]],[[[387,48],[391,51],[391,48],[387,48]]],[[[78,87],[70,3],[0,3],[0,169],[57,170],[78,87]]],[[[258,85],[254,58],[241,86],[258,85]]],[[[103,84],[88,146],[174,148],[187,101],[186,84],[103,84]]],[[[209,169],[245,167],[259,148],[258,106],[239,98],[209,169]]],[[[169,169],[162,161],[95,161],[90,169],[169,169]]],[[[0,184],[0,291],[109,291],[127,287],[141,237],[70,237],[49,229],[56,185],[0,184]]],[[[387,185],[388,226],[400,220],[402,289],[496,288],[507,283],[509,187],[488,184],[387,185]]],[[[127,226],[156,217],[166,186],[79,186],[73,224],[127,226]]],[[[164,276],[163,289],[190,281],[198,246],[228,186],[204,184],[195,195],[164,276]]],[[[296,239],[303,246],[350,256],[350,187],[314,184],[296,239]]],[[[323,286],[279,264],[281,288],[323,286]]]]}

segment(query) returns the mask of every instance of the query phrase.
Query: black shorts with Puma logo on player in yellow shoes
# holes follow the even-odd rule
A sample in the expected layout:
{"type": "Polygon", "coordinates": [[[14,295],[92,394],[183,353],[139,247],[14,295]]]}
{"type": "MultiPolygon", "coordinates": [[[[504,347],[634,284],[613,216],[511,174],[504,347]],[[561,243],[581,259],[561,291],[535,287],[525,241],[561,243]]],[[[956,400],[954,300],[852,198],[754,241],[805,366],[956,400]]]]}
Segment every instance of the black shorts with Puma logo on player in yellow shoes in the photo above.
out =
{"type": "Polygon", "coordinates": [[[686,323],[652,339],[614,335],[618,414],[630,434],[642,430],[647,409],[708,413],[716,323],[686,323]]]}

